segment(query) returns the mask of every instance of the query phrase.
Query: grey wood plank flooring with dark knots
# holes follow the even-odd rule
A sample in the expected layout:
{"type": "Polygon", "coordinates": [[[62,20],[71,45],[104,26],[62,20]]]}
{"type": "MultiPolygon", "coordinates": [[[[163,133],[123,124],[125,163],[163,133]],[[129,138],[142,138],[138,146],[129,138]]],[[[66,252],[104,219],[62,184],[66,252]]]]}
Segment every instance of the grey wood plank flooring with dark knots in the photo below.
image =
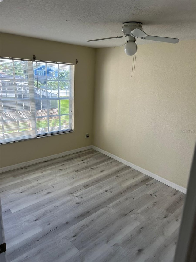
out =
{"type": "Polygon", "coordinates": [[[89,149],[2,173],[10,262],[171,262],[184,194],[89,149]]]}

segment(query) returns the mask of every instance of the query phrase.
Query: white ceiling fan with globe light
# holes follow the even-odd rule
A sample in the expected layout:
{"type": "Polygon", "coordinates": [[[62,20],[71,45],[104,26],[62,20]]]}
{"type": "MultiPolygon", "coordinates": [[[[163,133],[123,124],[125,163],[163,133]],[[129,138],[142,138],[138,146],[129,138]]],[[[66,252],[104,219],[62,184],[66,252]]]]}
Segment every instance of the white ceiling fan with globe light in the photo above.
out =
{"type": "Polygon", "coordinates": [[[122,37],[128,37],[128,39],[125,41],[123,45],[125,45],[125,53],[129,56],[133,56],[137,51],[137,45],[136,45],[136,38],[146,39],[146,40],[153,40],[153,41],[160,41],[160,42],[166,42],[166,43],[172,43],[176,44],[179,42],[178,38],[170,38],[170,37],[160,37],[160,36],[149,36],[142,30],[142,23],[140,22],[126,22],[123,24],[123,33],[125,36],[117,36],[117,37],[108,37],[108,38],[100,38],[100,39],[93,39],[88,40],[87,42],[92,41],[99,41],[99,40],[105,40],[105,39],[112,39],[112,38],[122,38],[122,37]]]}

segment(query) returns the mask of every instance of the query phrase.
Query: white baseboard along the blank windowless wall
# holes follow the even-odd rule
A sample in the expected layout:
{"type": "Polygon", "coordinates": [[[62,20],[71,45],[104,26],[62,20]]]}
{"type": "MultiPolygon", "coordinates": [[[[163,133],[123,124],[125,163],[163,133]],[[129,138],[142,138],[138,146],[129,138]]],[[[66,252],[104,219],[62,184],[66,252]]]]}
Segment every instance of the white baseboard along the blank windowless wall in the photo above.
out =
{"type": "Polygon", "coordinates": [[[109,157],[111,157],[111,158],[113,158],[113,159],[115,159],[115,160],[117,160],[117,161],[127,165],[127,166],[130,166],[130,167],[134,168],[135,170],[138,170],[139,172],[141,172],[141,173],[143,173],[143,174],[145,174],[145,175],[147,175],[147,176],[149,176],[151,178],[154,178],[154,179],[156,179],[156,180],[166,184],[167,186],[171,186],[172,188],[174,188],[176,190],[179,190],[182,193],[186,194],[186,192],[187,192],[186,188],[184,188],[182,186],[179,186],[179,185],[177,185],[177,184],[175,184],[175,183],[173,183],[173,182],[171,182],[171,181],[169,181],[169,180],[167,180],[165,178],[162,178],[162,177],[160,177],[160,176],[158,176],[156,174],[153,174],[152,172],[149,172],[148,170],[145,170],[145,169],[143,169],[143,168],[141,168],[139,166],[136,166],[136,165],[132,164],[131,162],[128,162],[128,161],[126,161],[126,160],[124,160],[122,158],[119,158],[118,156],[113,155],[113,154],[111,154],[111,153],[109,153],[109,152],[107,152],[107,151],[105,151],[103,149],[100,149],[99,147],[92,146],[92,148],[95,149],[96,151],[99,151],[102,154],[105,154],[105,155],[107,155],[107,156],[109,156],[109,157]]]}

